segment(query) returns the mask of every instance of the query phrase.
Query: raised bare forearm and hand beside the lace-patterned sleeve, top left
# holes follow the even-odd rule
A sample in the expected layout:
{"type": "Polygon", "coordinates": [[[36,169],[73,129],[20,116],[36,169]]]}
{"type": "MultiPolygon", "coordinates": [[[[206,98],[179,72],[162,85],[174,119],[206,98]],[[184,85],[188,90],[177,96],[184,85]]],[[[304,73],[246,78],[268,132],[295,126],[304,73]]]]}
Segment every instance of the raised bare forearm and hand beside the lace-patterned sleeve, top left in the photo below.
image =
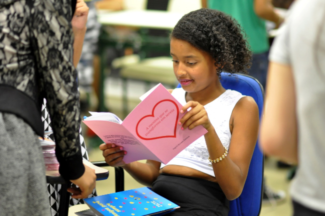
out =
{"type": "Polygon", "coordinates": [[[75,5],[75,11],[71,20],[72,30],[74,34],[73,41],[73,65],[77,66],[84,39],[84,34],[86,32],[86,23],[88,17],[89,8],[83,0],[77,0],[75,5]]]}

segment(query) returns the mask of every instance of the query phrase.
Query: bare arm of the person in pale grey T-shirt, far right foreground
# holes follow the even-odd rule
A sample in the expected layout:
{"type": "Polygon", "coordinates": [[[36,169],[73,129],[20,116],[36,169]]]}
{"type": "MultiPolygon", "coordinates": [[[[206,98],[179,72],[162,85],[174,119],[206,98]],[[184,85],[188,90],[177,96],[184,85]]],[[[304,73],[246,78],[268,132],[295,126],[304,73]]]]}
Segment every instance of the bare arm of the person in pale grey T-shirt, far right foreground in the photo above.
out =
{"type": "Polygon", "coordinates": [[[297,121],[292,70],[270,61],[259,142],[265,154],[297,163],[297,121]]]}

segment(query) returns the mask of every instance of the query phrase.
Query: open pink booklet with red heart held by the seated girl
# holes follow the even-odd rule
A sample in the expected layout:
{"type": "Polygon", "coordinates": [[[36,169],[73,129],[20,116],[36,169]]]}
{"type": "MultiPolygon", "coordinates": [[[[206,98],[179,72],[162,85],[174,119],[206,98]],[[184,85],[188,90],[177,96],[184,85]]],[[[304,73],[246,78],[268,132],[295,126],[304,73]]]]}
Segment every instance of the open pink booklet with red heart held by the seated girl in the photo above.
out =
{"type": "Polygon", "coordinates": [[[191,130],[177,124],[185,114],[182,105],[162,85],[146,97],[121,121],[109,112],[96,112],[83,122],[105,143],[123,146],[124,162],[152,159],[166,164],[181,150],[207,132],[199,125],[191,130]]]}

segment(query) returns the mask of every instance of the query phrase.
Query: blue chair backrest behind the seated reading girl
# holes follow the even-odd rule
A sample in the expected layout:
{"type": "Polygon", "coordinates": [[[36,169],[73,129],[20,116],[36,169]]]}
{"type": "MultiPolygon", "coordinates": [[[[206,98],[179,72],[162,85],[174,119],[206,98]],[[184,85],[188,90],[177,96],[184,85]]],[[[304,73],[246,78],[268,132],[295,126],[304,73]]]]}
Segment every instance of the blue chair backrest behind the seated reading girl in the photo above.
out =
{"type": "MultiPolygon", "coordinates": [[[[222,72],[220,82],[225,89],[236,90],[254,98],[258,106],[259,118],[261,117],[264,90],[257,79],[244,74],[230,75],[222,72]]],[[[259,215],[263,192],[263,162],[264,156],[257,140],[243,190],[238,198],[230,201],[229,216],[259,215]]]]}

